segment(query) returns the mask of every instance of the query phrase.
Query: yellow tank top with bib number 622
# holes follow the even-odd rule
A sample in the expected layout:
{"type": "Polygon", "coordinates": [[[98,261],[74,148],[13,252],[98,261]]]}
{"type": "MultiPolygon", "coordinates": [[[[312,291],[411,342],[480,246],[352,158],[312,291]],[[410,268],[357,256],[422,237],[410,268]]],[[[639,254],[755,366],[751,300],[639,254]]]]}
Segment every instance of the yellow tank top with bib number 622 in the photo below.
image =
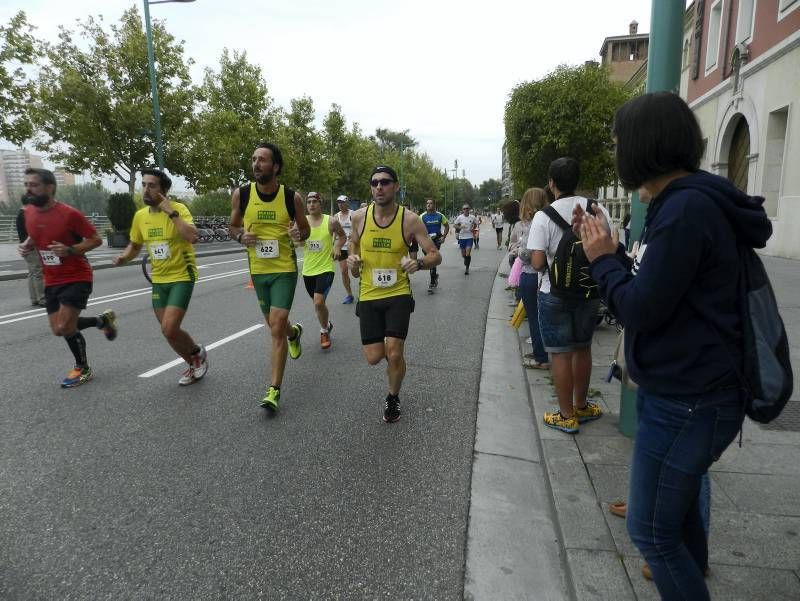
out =
{"type": "Polygon", "coordinates": [[[244,231],[258,236],[256,245],[247,247],[251,274],[297,271],[297,255],[287,231],[291,221],[286,210],[286,189],[283,185],[278,188],[274,199],[263,201],[255,182],[250,184],[250,196],[244,211],[244,231]]]}

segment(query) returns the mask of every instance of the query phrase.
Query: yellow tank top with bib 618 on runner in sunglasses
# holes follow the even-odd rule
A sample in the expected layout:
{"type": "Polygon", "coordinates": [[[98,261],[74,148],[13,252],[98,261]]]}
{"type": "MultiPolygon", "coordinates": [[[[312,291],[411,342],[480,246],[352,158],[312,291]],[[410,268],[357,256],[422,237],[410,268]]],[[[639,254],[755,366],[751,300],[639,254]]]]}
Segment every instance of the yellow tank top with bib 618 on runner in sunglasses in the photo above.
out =
{"type": "Polygon", "coordinates": [[[400,268],[400,259],[408,254],[403,237],[405,208],[397,207],[392,222],[386,227],[375,223],[375,205],[367,207],[361,233],[360,300],[378,300],[411,294],[408,274],[400,268]]]}

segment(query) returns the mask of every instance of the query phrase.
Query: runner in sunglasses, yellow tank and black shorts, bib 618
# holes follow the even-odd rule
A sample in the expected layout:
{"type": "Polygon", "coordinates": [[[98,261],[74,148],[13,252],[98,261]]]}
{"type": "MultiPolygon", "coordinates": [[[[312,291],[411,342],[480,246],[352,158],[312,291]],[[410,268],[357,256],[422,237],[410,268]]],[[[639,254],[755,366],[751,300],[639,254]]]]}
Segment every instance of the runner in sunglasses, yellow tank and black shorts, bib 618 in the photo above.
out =
{"type": "Polygon", "coordinates": [[[375,167],[370,178],[374,203],[353,214],[347,264],[361,277],[361,298],[356,314],[361,324],[361,344],[370,365],[386,359],[389,394],[383,421],[400,419],[400,386],[406,374],[403,357],[414,299],[408,276],[442,262],[439,249],[428,236],[422,219],[400,207],[395,195],[400,186],[394,169],[375,167]],[[425,252],[419,260],[408,256],[411,240],[425,252]]]}

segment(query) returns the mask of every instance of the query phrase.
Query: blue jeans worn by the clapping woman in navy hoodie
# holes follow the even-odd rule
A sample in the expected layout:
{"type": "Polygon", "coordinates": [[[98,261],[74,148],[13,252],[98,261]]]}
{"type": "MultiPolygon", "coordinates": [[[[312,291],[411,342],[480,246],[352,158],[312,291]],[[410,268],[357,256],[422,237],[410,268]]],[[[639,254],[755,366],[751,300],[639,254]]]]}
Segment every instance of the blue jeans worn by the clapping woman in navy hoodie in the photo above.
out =
{"type": "Polygon", "coordinates": [[[703,475],[741,427],[739,391],[662,397],[639,389],[636,405],[628,534],[662,599],[708,599],[708,497],[700,492],[703,475]]]}

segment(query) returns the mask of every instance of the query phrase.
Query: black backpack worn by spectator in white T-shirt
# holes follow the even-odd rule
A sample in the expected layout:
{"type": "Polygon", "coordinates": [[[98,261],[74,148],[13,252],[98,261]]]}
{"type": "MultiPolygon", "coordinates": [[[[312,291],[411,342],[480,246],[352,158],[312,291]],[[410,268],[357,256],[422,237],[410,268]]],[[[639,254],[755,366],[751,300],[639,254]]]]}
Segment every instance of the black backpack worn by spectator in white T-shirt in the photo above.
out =
{"type": "MultiPolygon", "coordinates": [[[[586,201],[586,210],[590,215],[594,215],[593,204],[596,204],[593,200],[586,201]]],[[[600,298],[597,282],[589,275],[589,260],[583,252],[581,239],[552,206],[546,206],[542,210],[563,232],[553,262],[548,266],[550,293],[564,299],[600,298]]]]}

